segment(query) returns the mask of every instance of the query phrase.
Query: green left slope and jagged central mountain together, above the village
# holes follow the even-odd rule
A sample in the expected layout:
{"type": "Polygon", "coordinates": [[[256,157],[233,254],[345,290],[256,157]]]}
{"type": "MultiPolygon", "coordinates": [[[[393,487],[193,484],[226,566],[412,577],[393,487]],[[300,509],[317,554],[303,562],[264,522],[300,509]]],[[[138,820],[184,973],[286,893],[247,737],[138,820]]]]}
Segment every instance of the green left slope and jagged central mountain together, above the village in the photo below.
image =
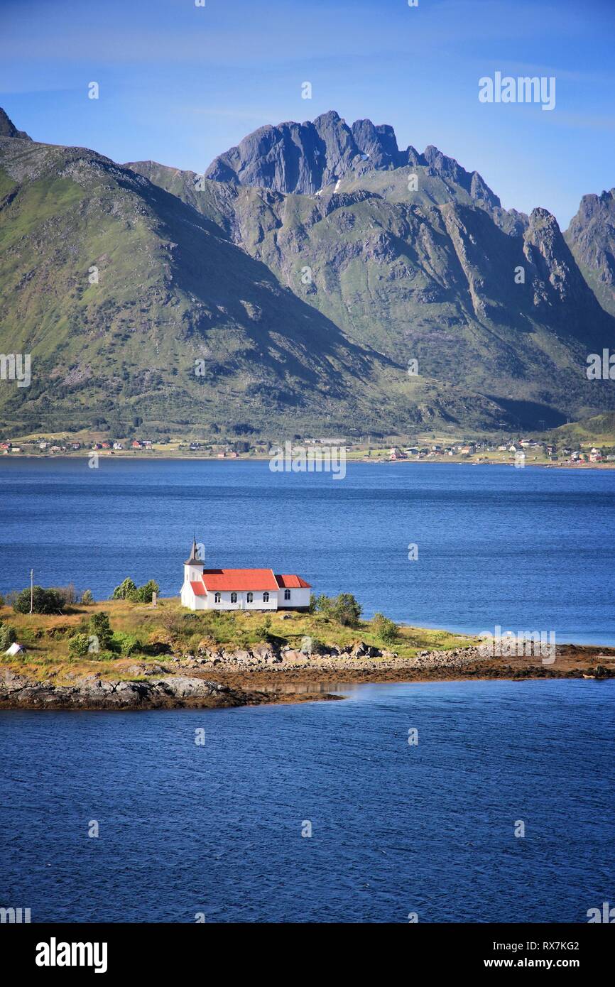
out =
{"type": "Polygon", "coordinates": [[[273,438],[615,408],[585,376],[615,320],[555,218],[389,126],[265,127],[203,179],[0,124],[0,351],[33,361],[0,427],[273,438]]]}

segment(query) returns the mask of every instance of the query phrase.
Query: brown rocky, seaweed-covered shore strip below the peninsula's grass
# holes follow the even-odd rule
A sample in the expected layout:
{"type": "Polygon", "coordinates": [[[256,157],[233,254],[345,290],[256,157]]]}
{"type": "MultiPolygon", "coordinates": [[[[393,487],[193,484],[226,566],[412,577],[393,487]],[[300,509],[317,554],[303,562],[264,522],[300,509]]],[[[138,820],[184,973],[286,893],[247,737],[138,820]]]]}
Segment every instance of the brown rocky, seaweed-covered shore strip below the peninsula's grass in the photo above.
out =
{"type": "Polygon", "coordinates": [[[532,656],[486,658],[479,646],[423,650],[411,657],[362,642],[319,651],[272,645],[198,648],[196,654],[162,661],[126,662],[115,672],[68,672],[61,682],[52,675],[35,681],[0,668],[0,710],[221,708],[341,698],[328,692],[326,683],[333,688],[331,683],[345,682],[615,676],[615,649],[590,646],[559,646],[553,664],[532,656]]]}

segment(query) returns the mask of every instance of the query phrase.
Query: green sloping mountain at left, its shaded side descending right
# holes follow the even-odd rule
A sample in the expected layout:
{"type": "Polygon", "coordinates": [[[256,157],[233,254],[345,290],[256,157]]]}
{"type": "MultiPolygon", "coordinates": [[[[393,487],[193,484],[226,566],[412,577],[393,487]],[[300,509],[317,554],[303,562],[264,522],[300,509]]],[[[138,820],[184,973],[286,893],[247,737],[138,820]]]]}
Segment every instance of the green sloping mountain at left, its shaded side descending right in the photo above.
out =
{"type": "Polygon", "coordinates": [[[0,138],[0,254],[0,351],[32,354],[31,385],[0,386],[5,428],[287,436],[500,417],[349,341],[219,225],[95,151],[0,138]]]}

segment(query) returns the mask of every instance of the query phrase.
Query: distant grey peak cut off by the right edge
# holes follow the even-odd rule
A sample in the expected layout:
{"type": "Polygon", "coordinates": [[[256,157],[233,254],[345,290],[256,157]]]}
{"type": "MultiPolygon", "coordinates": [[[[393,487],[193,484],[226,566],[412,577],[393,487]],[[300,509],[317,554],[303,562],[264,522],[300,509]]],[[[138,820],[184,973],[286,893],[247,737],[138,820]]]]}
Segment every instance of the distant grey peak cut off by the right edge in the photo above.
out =
{"type": "Polygon", "coordinates": [[[615,189],[583,195],[565,236],[587,284],[615,315],[615,189]]]}

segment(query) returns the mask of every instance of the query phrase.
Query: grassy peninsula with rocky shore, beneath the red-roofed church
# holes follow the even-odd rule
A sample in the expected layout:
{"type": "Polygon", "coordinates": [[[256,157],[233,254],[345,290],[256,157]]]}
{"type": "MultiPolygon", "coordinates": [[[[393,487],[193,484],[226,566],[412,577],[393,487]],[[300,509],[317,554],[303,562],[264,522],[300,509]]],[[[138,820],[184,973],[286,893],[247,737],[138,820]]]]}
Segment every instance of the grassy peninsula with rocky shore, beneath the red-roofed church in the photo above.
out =
{"type": "Polygon", "coordinates": [[[382,618],[348,626],[323,613],[192,613],[175,598],[57,615],[4,605],[0,622],[25,647],[0,656],[0,709],[245,705],[327,698],[332,683],[615,675],[615,648],[559,645],[552,665],[486,658],[476,638],[382,618]],[[99,650],[77,653],[93,627],[103,628],[99,650]]]}

